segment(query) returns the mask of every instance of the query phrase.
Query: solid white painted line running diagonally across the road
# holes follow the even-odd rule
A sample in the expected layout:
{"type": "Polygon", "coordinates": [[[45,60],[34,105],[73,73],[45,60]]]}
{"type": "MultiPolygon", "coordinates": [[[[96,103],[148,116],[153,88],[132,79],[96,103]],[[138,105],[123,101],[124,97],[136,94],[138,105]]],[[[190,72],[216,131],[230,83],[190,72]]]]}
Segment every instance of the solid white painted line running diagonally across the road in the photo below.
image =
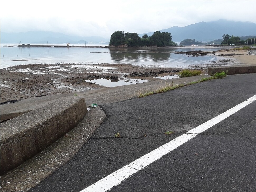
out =
{"type": "Polygon", "coordinates": [[[230,115],[236,113],[237,111],[249,105],[250,103],[254,102],[255,100],[256,100],[256,95],[236,105],[235,107],[227,110],[226,112],[218,115],[217,117],[212,118],[211,120],[197,126],[196,128],[191,129],[190,131],[184,133],[183,135],[160,146],[159,148],[149,152],[148,154],[140,157],[139,159],[113,172],[112,174],[106,176],[105,178],[99,180],[98,182],[92,184],[91,186],[85,188],[82,191],[107,191],[111,189],[113,186],[120,184],[123,180],[130,177],[134,173],[150,165],[151,163],[158,160],[162,156],[170,153],[172,150],[176,149],[178,146],[182,145],[183,143],[186,143],[190,139],[193,139],[198,134],[216,125],[217,123],[226,119],[230,115]]]}

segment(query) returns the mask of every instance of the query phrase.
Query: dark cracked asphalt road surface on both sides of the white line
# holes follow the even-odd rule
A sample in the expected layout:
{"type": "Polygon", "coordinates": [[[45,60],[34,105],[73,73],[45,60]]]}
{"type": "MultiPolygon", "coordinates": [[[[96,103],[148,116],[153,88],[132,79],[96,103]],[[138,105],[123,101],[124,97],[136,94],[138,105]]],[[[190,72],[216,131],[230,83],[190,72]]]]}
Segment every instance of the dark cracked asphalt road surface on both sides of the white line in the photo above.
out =
{"type": "MultiPolygon", "coordinates": [[[[256,74],[243,74],[102,105],[88,142],[31,191],[81,191],[255,94],[256,74]]],[[[256,191],[255,117],[256,101],[110,191],[256,191]]]]}

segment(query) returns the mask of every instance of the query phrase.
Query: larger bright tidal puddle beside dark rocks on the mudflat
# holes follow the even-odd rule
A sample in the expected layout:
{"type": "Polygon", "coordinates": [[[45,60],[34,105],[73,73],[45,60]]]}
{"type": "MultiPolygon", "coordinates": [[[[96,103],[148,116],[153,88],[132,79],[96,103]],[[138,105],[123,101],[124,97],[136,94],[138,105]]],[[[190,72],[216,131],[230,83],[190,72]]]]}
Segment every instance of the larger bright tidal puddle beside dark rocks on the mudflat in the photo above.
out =
{"type": "Polygon", "coordinates": [[[131,85],[131,84],[136,84],[136,83],[143,83],[143,82],[148,82],[147,80],[141,80],[141,79],[123,79],[123,80],[118,80],[117,82],[113,81],[111,82],[111,80],[107,80],[107,79],[94,79],[94,80],[86,80],[86,82],[91,82],[91,83],[95,83],[101,86],[105,86],[105,87],[116,87],[116,86],[122,86],[122,85],[131,85]],[[128,82],[127,82],[128,81],[128,82]]]}

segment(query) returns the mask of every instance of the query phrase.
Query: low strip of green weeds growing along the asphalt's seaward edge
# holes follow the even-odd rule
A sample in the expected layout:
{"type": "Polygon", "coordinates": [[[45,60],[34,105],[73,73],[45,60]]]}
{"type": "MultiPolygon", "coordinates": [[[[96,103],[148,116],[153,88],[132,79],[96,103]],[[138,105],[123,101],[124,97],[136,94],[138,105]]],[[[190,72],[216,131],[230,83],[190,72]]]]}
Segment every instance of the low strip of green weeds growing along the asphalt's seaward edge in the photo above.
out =
{"type": "Polygon", "coordinates": [[[208,80],[212,80],[212,79],[221,79],[221,78],[224,78],[226,76],[227,76],[227,72],[222,71],[222,72],[217,72],[215,74],[212,74],[211,77],[201,78],[198,81],[193,81],[193,82],[190,82],[190,83],[187,83],[187,84],[173,85],[173,81],[172,81],[171,85],[167,83],[166,86],[164,86],[162,88],[159,88],[157,90],[149,91],[149,92],[146,92],[146,93],[140,92],[139,97],[146,97],[148,95],[153,95],[155,93],[163,93],[163,92],[167,92],[169,90],[177,89],[177,88],[184,87],[184,86],[187,86],[187,85],[193,85],[193,84],[200,83],[200,82],[203,82],[203,81],[208,81],[208,80]]]}

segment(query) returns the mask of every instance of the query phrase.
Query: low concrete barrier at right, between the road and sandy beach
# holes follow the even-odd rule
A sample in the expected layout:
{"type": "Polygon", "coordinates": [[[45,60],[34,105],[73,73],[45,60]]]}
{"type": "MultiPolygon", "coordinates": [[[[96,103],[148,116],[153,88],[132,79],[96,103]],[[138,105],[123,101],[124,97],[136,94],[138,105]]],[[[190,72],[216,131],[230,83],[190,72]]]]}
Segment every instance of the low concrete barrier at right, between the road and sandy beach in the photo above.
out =
{"type": "Polygon", "coordinates": [[[234,66],[219,66],[208,67],[208,74],[214,74],[216,72],[227,71],[227,75],[244,74],[244,73],[256,73],[255,65],[234,65],[234,66]]]}

